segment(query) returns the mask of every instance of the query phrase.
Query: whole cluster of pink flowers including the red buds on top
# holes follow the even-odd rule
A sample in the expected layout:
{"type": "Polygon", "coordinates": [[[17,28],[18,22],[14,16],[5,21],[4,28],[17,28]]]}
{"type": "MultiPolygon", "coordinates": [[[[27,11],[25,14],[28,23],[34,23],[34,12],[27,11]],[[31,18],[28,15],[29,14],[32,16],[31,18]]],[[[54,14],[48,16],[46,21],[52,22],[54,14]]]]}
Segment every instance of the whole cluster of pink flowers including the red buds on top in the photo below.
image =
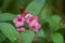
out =
{"type": "Polygon", "coordinates": [[[18,32],[25,31],[26,29],[24,28],[24,23],[27,23],[29,30],[38,32],[41,27],[41,25],[38,23],[38,17],[25,12],[24,9],[21,9],[21,12],[23,13],[23,15],[17,15],[13,19],[16,30],[18,32]],[[22,28],[20,28],[21,26],[22,28]]]}

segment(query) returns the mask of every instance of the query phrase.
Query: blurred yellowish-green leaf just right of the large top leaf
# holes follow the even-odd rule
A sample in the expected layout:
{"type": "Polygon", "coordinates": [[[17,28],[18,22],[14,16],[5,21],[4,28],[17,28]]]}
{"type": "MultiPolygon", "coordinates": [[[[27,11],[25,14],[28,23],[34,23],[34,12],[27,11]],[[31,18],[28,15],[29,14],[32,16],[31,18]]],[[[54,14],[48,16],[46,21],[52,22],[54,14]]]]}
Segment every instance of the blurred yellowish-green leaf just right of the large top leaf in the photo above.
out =
{"type": "Polygon", "coordinates": [[[49,6],[48,4],[46,4],[44,8],[42,9],[42,11],[38,14],[38,16],[40,17],[39,18],[40,23],[43,23],[46,20],[46,18],[52,14],[51,11],[52,11],[52,8],[49,6]]]}

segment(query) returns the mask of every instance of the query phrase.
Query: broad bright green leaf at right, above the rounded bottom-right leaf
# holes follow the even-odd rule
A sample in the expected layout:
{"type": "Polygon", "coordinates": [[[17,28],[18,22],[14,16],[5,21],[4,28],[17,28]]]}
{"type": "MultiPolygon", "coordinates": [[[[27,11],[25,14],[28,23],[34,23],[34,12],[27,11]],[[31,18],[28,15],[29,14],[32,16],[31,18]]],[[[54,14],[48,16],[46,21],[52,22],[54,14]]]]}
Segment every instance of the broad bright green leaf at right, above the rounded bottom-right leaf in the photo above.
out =
{"type": "Polygon", "coordinates": [[[57,30],[61,27],[61,19],[62,18],[58,15],[52,15],[47,18],[47,22],[49,23],[51,29],[57,30]]]}

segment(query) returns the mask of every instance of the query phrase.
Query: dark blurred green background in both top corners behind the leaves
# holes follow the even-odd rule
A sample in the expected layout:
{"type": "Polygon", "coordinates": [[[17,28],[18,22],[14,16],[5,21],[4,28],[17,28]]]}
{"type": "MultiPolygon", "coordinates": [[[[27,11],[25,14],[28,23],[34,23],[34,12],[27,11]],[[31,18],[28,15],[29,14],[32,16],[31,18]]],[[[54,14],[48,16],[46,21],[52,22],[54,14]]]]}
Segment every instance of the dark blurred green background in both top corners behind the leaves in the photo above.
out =
{"type": "MultiPolygon", "coordinates": [[[[2,12],[10,12],[10,13],[20,13],[18,9],[21,6],[26,6],[31,2],[32,0],[0,0],[0,9],[2,12]]],[[[53,6],[53,11],[56,13],[65,13],[65,0],[49,0],[50,3],[53,6]]]]}

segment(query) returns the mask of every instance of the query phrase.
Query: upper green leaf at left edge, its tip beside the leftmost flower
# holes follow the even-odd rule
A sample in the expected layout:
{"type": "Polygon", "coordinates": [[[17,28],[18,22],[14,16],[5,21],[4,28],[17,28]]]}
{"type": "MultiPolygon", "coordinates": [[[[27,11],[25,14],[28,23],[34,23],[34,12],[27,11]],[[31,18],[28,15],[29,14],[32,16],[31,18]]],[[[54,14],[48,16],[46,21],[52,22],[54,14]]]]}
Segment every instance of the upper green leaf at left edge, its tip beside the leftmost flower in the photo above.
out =
{"type": "Polygon", "coordinates": [[[10,13],[2,13],[0,14],[0,22],[5,22],[5,20],[13,20],[15,15],[10,14],[10,13]]]}

